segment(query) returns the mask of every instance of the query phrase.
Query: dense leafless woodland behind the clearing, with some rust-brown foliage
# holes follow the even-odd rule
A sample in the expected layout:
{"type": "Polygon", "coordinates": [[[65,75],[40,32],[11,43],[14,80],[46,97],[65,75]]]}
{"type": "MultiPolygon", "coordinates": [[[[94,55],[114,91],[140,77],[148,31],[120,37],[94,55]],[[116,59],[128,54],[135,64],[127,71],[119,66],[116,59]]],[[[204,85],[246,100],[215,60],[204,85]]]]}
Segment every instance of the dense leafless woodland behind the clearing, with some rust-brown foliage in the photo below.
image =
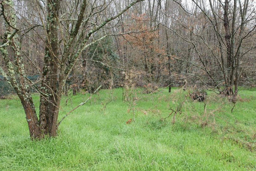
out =
{"type": "MultiPolygon", "coordinates": [[[[75,94],[80,89],[94,91],[99,85],[105,89],[124,86],[154,89],[185,84],[220,89],[226,84],[223,70],[226,68],[227,74],[232,70],[229,57],[226,57],[229,55],[230,42],[234,42],[235,53],[238,48],[241,51],[239,64],[233,66],[236,68],[239,65],[239,86],[255,87],[255,3],[239,0],[234,12],[234,2],[210,2],[212,8],[208,1],[201,0],[146,0],[133,5],[116,21],[108,23],[90,37],[89,41],[93,42],[104,35],[116,34],[82,51],[69,73],[66,90],[72,89],[75,94]],[[243,16],[241,10],[246,3],[247,12],[243,16]],[[225,12],[230,27],[228,30],[225,29],[225,12]],[[242,17],[245,18],[243,30],[242,17]],[[234,33],[231,27],[234,27],[234,33]],[[118,35],[128,32],[134,33],[118,35]],[[226,39],[227,32],[231,33],[230,40],[226,39]],[[132,85],[127,85],[129,81],[132,85]]],[[[20,39],[26,74],[29,79],[38,81],[42,78],[46,40],[35,3],[32,0],[18,0],[14,1],[14,8],[18,17],[17,25],[24,29],[20,39]],[[31,26],[33,29],[27,32],[31,26]]],[[[62,3],[65,6],[63,10],[71,13],[74,10],[72,5],[78,4],[79,0],[62,3]]],[[[93,4],[93,1],[89,3],[93,4]]],[[[106,15],[111,15],[130,2],[111,0],[97,3],[106,7],[105,12],[109,13],[106,15]]],[[[98,19],[99,16],[95,16],[92,20],[96,23],[98,19]]],[[[3,35],[5,24],[2,16],[0,21],[0,34],[3,35]]],[[[67,24],[67,21],[62,24],[67,24]]],[[[73,27],[75,21],[68,24],[73,27]]],[[[233,57],[236,58],[236,54],[233,57]]],[[[0,65],[5,68],[2,58],[0,65]]],[[[13,92],[1,76],[0,95],[13,92]]]]}

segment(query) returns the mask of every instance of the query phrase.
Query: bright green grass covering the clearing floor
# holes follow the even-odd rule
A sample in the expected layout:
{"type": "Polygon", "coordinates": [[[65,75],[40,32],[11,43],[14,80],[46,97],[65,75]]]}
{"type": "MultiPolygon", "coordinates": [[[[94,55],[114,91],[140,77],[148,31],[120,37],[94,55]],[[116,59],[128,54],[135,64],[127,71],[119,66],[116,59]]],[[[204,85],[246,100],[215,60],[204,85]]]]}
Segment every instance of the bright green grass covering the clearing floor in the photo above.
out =
{"type": "MultiPolygon", "coordinates": [[[[233,103],[208,92],[206,102],[160,89],[122,101],[122,89],[101,90],[60,125],[59,136],[31,141],[17,97],[0,100],[0,170],[256,170],[256,89],[240,90],[233,103]],[[206,104],[206,108],[204,108],[206,104]],[[130,124],[126,122],[133,118],[130,124]]],[[[72,97],[60,117],[87,99],[72,97]]],[[[38,95],[34,95],[38,110],[38,95]]]]}

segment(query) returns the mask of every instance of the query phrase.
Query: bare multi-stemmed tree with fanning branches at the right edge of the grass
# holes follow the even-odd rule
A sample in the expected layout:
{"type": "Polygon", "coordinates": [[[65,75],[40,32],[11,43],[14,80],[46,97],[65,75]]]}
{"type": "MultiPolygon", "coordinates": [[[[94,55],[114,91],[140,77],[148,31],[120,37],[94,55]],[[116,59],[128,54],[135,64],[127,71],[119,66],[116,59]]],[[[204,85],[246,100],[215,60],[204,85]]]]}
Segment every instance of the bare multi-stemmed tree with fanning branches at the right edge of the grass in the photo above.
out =
{"type": "MultiPolygon", "coordinates": [[[[255,50],[255,45],[246,43],[253,40],[255,33],[254,2],[209,0],[209,8],[203,1],[190,2],[190,5],[186,5],[176,1],[184,11],[183,21],[175,18],[178,25],[183,27],[182,31],[177,27],[166,26],[183,42],[193,47],[189,48],[188,58],[182,59],[179,56],[176,59],[202,70],[214,87],[220,88],[224,81],[223,93],[236,97],[241,78],[241,61],[255,50]],[[192,61],[190,53],[194,56],[192,61]],[[222,72],[222,77],[219,71],[222,72]]],[[[195,70],[191,74],[194,75],[195,70]]]]}

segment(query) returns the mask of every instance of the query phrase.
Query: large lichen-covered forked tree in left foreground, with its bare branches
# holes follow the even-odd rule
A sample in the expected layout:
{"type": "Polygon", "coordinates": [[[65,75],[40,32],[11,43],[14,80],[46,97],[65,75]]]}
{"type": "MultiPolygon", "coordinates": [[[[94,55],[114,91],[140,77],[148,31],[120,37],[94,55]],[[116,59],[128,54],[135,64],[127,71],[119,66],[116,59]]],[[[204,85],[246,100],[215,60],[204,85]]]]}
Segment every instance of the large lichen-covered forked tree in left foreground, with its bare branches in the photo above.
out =
{"type": "Polygon", "coordinates": [[[40,79],[41,87],[26,76],[26,63],[21,54],[23,34],[33,30],[36,25],[17,26],[17,4],[12,0],[1,0],[1,16],[5,22],[0,50],[5,68],[2,75],[10,82],[19,96],[26,113],[31,138],[43,138],[46,134],[56,136],[60,100],[65,81],[82,51],[110,34],[90,39],[110,21],[126,12],[136,0],[117,13],[110,13],[112,1],[33,1],[37,10],[37,19],[44,29],[45,55],[40,79]],[[44,14],[46,9],[47,14],[44,14]],[[91,41],[91,42],[90,42],[91,41]],[[40,93],[39,119],[36,115],[30,87],[40,93]]]}

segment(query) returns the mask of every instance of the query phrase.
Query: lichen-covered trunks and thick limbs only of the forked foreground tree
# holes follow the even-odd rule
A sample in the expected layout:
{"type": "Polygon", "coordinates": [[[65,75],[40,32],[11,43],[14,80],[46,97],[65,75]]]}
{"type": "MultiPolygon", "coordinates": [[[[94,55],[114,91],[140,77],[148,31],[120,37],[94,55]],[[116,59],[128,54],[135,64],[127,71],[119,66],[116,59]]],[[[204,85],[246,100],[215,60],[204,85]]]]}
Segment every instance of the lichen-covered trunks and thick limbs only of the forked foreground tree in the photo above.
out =
{"type": "MultiPolygon", "coordinates": [[[[58,38],[58,32],[60,32],[60,23],[58,19],[61,1],[47,0],[48,13],[46,24],[44,25],[46,29],[46,43],[40,88],[37,88],[35,84],[30,82],[30,80],[26,78],[25,64],[21,55],[21,43],[19,42],[20,40],[17,35],[17,32],[22,29],[16,27],[16,13],[13,10],[14,2],[12,0],[0,1],[2,8],[1,12],[3,13],[6,26],[6,30],[3,35],[4,41],[0,44],[0,52],[7,67],[7,72],[5,72],[1,67],[0,71],[5,79],[15,89],[18,97],[20,98],[20,101],[26,113],[29,132],[32,139],[44,138],[45,135],[49,135],[51,137],[57,135],[58,126],[60,122],[65,118],[63,117],[62,120],[58,123],[62,90],[70,70],[73,68],[78,56],[85,48],[101,40],[107,35],[102,36],[101,38],[97,39],[92,43],[87,43],[90,36],[100,30],[109,21],[119,17],[132,5],[140,1],[143,0],[136,0],[131,2],[121,12],[119,12],[115,16],[107,18],[100,25],[95,26],[92,30],[87,32],[85,38],[82,38],[81,36],[77,35],[79,33],[81,24],[84,22],[83,18],[87,7],[87,0],[83,0],[81,2],[80,12],[78,15],[78,19],[74,25],[74,29],[71,30],[71,33],[70,35],[68,35],[69,37],[67,38],[68,40],[64,43],[64,50],[59,51],[58,43],[61,41],[59,41],[58,38]],[[9,58],[7,47],[10,45],[13,49],[13,55],[14,58],[16,58],[16,61],[11,61],[9,58]],[[74,47],[77,47],[77,49],[74,47]],[[59,54],[59,52],[63,53],[59,54]],[[18,80],[16,79],[16,73],[19,74],[18,80]],[[33,85],[40,93],[39,119],[37,117],[33,99],[30,93],[31,85],[33,85]]],[[[42,21],[42,23],[44,23],[44,21],[42,21]]],[[[69,32],[69,30],[67,32],[69,32]]],[[[81,103],[79,106],[83,104],[84,103],[81,103]]]]}

